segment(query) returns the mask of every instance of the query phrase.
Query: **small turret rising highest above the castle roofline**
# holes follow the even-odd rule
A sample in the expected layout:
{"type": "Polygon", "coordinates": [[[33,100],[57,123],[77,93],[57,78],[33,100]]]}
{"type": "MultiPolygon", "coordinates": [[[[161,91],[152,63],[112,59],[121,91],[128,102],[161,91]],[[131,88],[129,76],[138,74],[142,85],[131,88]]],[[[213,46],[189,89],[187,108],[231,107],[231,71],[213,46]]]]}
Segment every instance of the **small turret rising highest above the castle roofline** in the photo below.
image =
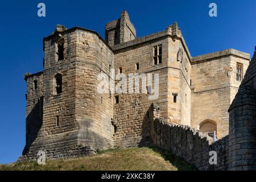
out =
{"type": "Polygon", "coordinates": [[[122,11],[121,17],[106,24],[106,42],[110,46],[128,42],[136,38],[136,30],[131,23],[127,11],[122,11]]]}

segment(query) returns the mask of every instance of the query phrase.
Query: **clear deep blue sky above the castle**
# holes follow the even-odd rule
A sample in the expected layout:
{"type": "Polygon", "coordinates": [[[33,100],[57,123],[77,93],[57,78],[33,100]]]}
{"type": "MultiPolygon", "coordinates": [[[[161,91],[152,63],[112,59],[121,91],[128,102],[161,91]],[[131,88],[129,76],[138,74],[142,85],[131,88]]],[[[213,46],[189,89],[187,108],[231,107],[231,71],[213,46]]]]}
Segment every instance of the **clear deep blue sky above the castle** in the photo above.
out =
{"type": "Polygon", "coordinates": [[[256,46],[255,0],[184,1],[1,1],[0,5],[0,163],[17,160],[25,146],[26,72],[42,71],[43,37],[56,24],[89,28],[105,36],[105,23],[127,10],[137,36],[178,22],[192,56],[226,48],[251,53],[256,46]],[[46,5],[46,17],[37,5],[46,5]],[[209,16],[209,4],[218,17],[209,16]]]}

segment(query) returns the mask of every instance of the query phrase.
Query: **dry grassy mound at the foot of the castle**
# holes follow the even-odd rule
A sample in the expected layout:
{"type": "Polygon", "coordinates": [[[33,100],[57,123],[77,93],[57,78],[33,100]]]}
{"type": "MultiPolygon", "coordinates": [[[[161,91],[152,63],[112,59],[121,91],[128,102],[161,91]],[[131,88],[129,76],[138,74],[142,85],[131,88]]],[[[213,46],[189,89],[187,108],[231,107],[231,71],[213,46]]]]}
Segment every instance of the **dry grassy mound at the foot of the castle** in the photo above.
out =
{"type": "Polygon", "coordinates": [[[195,170],[195,167],[168,151],[157,147],[115,148],[96,155],[75,159],[46,160],[46,165],[37,162],[1,164],[0,170],[142,170],[177,171],[195,170]]]}

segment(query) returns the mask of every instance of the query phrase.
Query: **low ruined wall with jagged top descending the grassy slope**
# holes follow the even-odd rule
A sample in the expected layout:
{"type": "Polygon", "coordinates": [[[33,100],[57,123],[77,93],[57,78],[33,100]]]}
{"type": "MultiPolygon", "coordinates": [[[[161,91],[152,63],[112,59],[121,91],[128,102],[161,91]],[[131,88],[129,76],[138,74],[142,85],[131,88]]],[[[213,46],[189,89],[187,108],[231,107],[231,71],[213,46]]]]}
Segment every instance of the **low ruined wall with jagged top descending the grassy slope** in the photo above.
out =
{"type": "Polygon", "coordinates": [[[213,143],[213,138],[189,126],[174,125],[155,118],[152,121],[153,143],[180,156],[202,171],[227,170],[228,137],[213,143]],[[217,165],[210,165],[210,151],[217,152],[217,165]]]}

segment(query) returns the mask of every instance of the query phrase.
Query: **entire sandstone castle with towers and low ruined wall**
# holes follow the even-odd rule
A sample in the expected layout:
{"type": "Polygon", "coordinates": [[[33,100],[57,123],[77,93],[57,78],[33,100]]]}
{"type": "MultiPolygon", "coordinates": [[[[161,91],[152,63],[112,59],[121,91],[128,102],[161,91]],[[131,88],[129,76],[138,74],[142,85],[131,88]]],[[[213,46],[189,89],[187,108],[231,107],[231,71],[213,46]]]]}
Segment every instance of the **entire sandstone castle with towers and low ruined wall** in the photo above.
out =
{"type": "Polygon", "coordinates": [[[105,40],[95,31],[58,25],[43,39],[43,51],[43,71],[24,76],[26,146],[20,160],[37,158],[39,150],[65,158],[155,144],[199,169],[243,169],[232,167],[229,142],[233,146],[237,135],[230,139],[228,109],[249,67],[248,53],[226,49],[191,57],[177,23],[137,38],[127,11],[106,24],[105,40]],[[115,75],[158,73],[158,98],[97,93],[97,76],[111,79],[111,69],[115,75]],[[204,153],[214,148],[222,156],[217,167],[204,153]]]}

